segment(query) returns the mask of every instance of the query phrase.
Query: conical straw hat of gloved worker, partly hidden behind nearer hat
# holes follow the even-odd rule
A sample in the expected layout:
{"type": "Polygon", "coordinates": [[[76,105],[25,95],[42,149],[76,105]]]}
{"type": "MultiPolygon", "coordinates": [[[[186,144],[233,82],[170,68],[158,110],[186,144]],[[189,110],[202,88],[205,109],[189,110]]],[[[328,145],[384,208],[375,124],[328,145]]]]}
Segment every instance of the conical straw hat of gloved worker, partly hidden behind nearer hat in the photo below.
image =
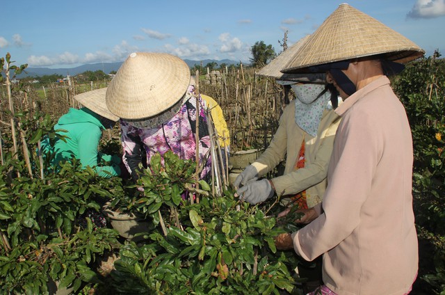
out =
{"type": "Polygon", "coordinates": [[[309,35],[301,38],[294,45],[284,50],[280,55],[274,58],[257,72],[259,76],[271,77],[282,81],[312,81],[325,82],[323,74],[283,74],[281,70],[295,56],[302,45],[309,39],[309,35]]]}

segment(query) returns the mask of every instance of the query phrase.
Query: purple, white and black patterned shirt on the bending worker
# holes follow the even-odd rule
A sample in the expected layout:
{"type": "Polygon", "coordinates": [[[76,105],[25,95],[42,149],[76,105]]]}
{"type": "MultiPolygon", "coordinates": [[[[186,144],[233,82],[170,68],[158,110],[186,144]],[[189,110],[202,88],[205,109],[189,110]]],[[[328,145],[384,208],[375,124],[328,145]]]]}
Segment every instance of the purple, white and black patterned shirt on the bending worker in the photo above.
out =
{"type": "MultiPolygon", "coordinates": [[[[121,119],[123,162],[134,180],[138,178],[138,165],[142,162],[143,151],[147,154],[147,162],[156,152],[163,155],[172,150],[181,159],[193,159],[196,157],[196,102],[199,102],[199,157],[200,165],[205,163],[200,174],[200,179],[207,176],[211,169],[211,157],[209,157],[210,136],[207,126],[207,117],[204,111],[205,104],[200,95],[194,94],[193,86],[188,88],[182,100],[179,111],[170,120],[159,125],[141,127],[131,121],[121,119]],[[136,126],[138,127],[136,127],[136,126]]],[[[149,120],[152,122],[152,120],[149,120]]]]}

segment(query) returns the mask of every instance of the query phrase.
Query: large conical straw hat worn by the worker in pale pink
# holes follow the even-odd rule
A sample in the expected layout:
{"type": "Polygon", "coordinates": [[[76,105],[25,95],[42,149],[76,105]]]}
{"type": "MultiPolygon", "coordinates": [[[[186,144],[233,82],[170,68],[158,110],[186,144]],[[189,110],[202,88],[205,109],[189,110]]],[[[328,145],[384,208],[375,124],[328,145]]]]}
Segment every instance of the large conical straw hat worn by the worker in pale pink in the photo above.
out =
{"type": "Polygon", "coordinates": [[[425,51],[385,24],[343,3],[302,45],[282,72],[304,72],[314,65],[378,54],[389,61],[407,63],[423,56],[425,51]]]}

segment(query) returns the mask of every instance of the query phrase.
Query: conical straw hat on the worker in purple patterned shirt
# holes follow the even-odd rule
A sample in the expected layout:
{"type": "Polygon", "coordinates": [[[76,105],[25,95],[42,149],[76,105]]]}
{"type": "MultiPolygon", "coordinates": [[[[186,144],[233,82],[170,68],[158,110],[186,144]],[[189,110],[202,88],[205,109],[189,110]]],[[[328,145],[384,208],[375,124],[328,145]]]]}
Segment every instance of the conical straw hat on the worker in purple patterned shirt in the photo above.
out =
{"type": "Polygon", "coordinates": [[[186,93],[188,65],[163,53],[132,53],[106,91],[106,106],[124,119],[149,118],[169,109],[186,93]]]}

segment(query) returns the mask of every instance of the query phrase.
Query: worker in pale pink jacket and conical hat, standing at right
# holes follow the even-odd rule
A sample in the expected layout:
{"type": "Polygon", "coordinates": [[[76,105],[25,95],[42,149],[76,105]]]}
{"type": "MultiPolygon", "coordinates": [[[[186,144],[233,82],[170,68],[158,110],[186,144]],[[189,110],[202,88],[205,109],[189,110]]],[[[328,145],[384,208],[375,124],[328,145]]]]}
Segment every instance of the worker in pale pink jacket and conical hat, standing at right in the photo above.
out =
{"type": "Polygon", "coordinates": [[[403,295],[416,280],[412,135],[387,75],[423,53],[341,4],[282,71],[327,72],[344,99],[323,201],[307,210],[309,224],[276,240],[305,260],[323,255],[324,285],[311,294],[403,295]]]}

